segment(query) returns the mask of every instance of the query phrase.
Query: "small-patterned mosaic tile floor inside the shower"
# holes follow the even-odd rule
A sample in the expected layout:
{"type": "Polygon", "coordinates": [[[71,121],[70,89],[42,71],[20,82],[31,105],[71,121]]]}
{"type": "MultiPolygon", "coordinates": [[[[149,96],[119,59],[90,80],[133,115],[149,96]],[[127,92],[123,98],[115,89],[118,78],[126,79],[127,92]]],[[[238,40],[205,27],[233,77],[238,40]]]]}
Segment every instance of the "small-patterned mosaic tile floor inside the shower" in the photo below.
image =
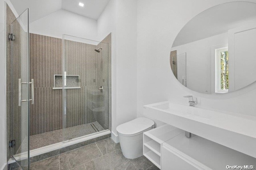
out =
{"type": "MultiPolygon", "coordinates": [[[[92,123],[95,125],[98,131],[105,130],[97,121],[92,123]]],[[[30,136],[30,150],[52,145],[54,143],[62,142],[63,134],[65,137],[65,140],[69,140],[69,139],[74,139],[76,137],[89,135],[95,132],[96,131],[92,127],[91,123],[87,123],[84,125],[68,127],[65,130],[59,129],[56,131],[50,131],[46,133],[40,133],[38,135],[32,135],[30,136]]],[[[22,142],[22,145],[20,149],[18,149],[17,154],[28,150],[27,143],[28,141],[22,142]]]]}

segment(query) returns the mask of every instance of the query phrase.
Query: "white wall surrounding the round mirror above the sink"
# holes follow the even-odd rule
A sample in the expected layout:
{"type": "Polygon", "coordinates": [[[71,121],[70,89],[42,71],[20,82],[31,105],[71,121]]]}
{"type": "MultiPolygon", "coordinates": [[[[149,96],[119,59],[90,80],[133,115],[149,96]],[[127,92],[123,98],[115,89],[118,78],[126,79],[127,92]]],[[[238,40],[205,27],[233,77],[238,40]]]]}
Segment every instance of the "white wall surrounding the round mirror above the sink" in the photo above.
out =
{"type": "Polygon", "coordinates": [[[227,94],[199,94],[182,86],[170,68],[170,49],[180,29],[200,12],[224,2],[232,0],[138,0],[138,116],[145,104],[166,100],[188,104],[185,95],[197,97],[199,106],[256,115],[255,83],[227,94]]]}

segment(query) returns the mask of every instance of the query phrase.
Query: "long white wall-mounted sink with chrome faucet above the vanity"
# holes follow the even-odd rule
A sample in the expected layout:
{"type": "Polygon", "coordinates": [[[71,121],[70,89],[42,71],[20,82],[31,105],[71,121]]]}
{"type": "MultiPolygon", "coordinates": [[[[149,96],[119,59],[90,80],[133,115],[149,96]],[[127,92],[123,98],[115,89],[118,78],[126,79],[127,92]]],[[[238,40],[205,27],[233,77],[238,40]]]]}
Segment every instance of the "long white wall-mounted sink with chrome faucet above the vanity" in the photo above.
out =
{"type": "Polygon", "coordinates": [[[144,115],[256,158],[256,117],[202,107],[160,102],[144,115]]]}

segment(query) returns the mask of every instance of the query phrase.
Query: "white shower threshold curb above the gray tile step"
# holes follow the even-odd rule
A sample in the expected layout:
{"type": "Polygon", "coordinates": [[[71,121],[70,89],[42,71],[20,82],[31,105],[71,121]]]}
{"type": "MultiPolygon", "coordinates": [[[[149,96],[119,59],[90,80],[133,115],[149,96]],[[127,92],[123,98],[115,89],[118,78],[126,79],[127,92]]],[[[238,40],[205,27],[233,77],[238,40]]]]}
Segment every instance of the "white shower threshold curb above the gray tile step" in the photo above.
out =
{"type": "MultiPolygon", "coordinates": [[[[77,143],[88,141],[90,139],[95,139],[95,138],[102,137],[104,135],[110,135],[110,134],[111,134],[111,131],[106,129],[106,130],[95,132],[95,133],[85,135],[82,137],[77,137],[77,138],[69,140],[69,141],[59,142],[59,143],[55,143],[55,144],[48,145],[45,147],[33,149],[33,150],[30,150],[30,158],[32,158],[34,156],[41,155],[41,154],[45,154],[47,152],[51,152],[54,150],[62,149],[62,148],[65,148],[65,147],[68,147],[71,145],[75,145],[77,143]]],[[[28,158],[28,152],[26,151],[26,152],[18,153],[18,154],[13,155],[13,157],[14,158],[10,158],[8,160],[8,164],[14,163],[16,161],[26,160],[28,158]]]]}

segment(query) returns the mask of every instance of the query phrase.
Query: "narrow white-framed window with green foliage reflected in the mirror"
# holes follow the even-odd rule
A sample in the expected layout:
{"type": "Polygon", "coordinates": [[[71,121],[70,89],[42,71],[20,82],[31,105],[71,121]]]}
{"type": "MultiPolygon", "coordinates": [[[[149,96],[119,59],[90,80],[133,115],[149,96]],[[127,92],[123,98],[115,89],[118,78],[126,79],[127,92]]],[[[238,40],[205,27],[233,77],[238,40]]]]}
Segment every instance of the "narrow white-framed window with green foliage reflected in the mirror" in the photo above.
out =
{"type": "Polygon", "coordinates": [[[215,49],[215,92],[228,92],[228,47],[215,49]]]}

